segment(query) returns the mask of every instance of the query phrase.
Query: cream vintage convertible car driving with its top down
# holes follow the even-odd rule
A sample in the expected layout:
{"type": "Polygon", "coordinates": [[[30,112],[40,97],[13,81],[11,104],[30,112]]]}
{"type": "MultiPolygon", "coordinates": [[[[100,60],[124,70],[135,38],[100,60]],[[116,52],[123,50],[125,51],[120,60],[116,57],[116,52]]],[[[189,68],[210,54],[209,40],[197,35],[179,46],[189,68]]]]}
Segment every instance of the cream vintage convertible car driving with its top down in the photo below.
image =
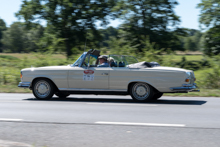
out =
{"type": "Polygon", "coordinates": [[[109,67],[98,67],[100,51],[84,52],[75,63],[21,70],[18,87],[29,88],[40,100],[70,94],[131,95],[151,101],[163,93],[198,92],[193,71],[138,62],[133,56],[109,55],[109,67]]]}

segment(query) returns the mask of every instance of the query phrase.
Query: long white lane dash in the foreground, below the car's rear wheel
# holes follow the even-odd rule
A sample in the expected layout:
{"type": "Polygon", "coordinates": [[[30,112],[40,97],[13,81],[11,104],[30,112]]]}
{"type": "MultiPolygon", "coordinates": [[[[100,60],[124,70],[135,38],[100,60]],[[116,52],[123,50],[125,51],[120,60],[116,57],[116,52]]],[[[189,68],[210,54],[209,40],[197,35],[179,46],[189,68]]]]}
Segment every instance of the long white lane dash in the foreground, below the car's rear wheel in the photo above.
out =
{"type": "Polygon", "coordinates": [[[185,127],[185,124],[159,124],[159,123],[132,123],[132,122],[105,122],[97,121],[95,124],[108,125],[134,125],[134,126],[158,126],[158,127],[185,127]]]}

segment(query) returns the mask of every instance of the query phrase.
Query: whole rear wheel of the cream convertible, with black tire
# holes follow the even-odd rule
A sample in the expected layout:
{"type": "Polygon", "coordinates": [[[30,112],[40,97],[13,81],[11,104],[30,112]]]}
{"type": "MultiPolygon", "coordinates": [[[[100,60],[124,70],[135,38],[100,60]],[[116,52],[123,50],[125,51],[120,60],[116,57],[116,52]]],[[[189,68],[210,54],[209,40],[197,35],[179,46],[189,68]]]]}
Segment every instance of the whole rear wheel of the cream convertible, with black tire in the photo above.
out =
{"type": "Polygon", "coordinates": [[[154,96],[154,89],[142,82],[132,84],[129,91],[133,100],[138,102],[149,102],[154,96]]]}

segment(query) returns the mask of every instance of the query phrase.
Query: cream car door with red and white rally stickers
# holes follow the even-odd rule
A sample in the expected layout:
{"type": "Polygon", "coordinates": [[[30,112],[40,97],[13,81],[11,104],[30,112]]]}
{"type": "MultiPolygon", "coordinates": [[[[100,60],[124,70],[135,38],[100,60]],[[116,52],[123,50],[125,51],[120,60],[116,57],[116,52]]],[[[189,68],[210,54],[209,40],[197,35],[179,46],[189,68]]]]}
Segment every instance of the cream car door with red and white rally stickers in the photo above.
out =
{"type": "Polygon", "coordinates": [[[109,88],[109,67],[73,67],[68,84],[72,90],[106,90],[109,88]]]}

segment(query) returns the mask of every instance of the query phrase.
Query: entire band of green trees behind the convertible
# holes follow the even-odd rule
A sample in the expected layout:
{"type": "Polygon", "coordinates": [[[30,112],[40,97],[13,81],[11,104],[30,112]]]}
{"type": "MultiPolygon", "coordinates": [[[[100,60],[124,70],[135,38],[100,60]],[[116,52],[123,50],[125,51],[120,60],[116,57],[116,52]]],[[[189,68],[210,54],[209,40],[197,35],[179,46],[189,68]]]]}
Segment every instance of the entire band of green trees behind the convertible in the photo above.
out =
{"type": "Polygon", "coordinates": [[[24,0],[16,13],[24,23],[7,28],[0,19],[0,52],[64,52],[70,57],[83,51],[86,42],[87,48],[104,52],[141,54],[150,43],[158,54],[176,50],[219,54],[218,7],[209,12],[219,2],[207,0],[198,5],[200,23],[211,26],[205,33],[178,27],[177,4],[175,0],[24,0]],[[123,23],[118,28],[98,29],[97,22],[106,26],[111,19],[123,23]]]}

